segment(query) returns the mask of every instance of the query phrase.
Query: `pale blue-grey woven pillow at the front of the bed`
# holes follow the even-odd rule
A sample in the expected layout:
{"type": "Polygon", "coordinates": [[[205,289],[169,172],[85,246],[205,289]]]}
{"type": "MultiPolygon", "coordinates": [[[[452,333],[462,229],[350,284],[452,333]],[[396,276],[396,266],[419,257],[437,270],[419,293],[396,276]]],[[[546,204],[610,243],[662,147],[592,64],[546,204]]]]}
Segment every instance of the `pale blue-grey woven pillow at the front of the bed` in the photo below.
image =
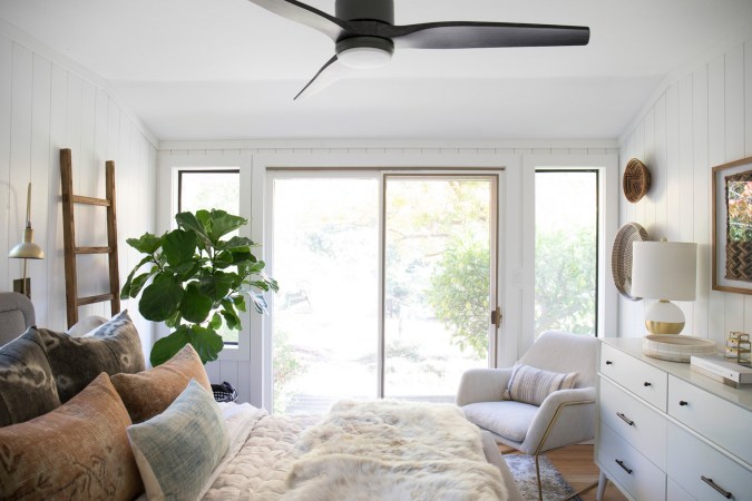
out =
{"type": "Polygon", "coordinates": [[[165,412],[127,432],[149,501],[197,499],[229,446],[222,411],[196,380],[165,412]]]}

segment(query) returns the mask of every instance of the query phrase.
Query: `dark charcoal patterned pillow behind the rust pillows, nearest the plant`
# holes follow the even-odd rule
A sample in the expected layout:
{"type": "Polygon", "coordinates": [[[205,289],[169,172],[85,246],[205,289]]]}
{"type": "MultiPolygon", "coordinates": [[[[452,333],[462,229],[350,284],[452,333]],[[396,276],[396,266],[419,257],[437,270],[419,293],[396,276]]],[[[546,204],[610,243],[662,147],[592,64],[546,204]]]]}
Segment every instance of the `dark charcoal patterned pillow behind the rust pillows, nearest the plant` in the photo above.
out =
{"type": "Polygon", "coordinates": [[[82,337],[40,328],[60,402],[67,402],[101,372],[138,372],[145,367],[141,340],[128,312],[118,313],[82,337]]]}

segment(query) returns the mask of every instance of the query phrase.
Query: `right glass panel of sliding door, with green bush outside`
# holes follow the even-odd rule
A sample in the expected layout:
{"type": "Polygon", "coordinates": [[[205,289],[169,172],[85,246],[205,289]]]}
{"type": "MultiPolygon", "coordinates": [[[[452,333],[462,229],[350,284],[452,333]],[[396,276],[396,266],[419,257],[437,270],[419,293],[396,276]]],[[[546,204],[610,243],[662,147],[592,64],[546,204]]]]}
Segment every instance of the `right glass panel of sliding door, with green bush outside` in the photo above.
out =
{"type": "Polygon", "coordinates": [[[489,365],[495,187],[385,177],[384,396],[452,402],[461,374],[489,365]]]}

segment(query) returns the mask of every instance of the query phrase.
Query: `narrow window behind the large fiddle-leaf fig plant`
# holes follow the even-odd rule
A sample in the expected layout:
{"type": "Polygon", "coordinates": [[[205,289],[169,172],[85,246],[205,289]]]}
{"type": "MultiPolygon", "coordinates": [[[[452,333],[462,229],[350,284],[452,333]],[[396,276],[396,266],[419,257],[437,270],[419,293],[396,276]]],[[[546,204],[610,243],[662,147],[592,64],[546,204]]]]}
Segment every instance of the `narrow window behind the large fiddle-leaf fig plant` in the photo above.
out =
{"type": "MultiPolygon", "coordinates": [[[[178,170],[177,171],[177,212],[195,213],[199,209],[222,209],[229,214],[240,214],[240,169],[178,170]]],[[[237,345],[240,331],[227,328],[223,324],[218,331],[225,345],[237,345]]]]}

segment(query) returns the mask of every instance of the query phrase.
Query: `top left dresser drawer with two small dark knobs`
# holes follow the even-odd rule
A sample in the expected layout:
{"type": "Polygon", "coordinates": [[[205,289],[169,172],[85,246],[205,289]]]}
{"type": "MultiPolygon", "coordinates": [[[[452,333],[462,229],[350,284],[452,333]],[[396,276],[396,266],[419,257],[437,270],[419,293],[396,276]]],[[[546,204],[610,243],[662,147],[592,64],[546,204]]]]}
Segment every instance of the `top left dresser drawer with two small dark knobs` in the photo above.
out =
{"type": "Polygon", "coordinates": [[[666,411],[667,375],[607,344],[600,344],[600,373],[661,411],[666,411]]]}

